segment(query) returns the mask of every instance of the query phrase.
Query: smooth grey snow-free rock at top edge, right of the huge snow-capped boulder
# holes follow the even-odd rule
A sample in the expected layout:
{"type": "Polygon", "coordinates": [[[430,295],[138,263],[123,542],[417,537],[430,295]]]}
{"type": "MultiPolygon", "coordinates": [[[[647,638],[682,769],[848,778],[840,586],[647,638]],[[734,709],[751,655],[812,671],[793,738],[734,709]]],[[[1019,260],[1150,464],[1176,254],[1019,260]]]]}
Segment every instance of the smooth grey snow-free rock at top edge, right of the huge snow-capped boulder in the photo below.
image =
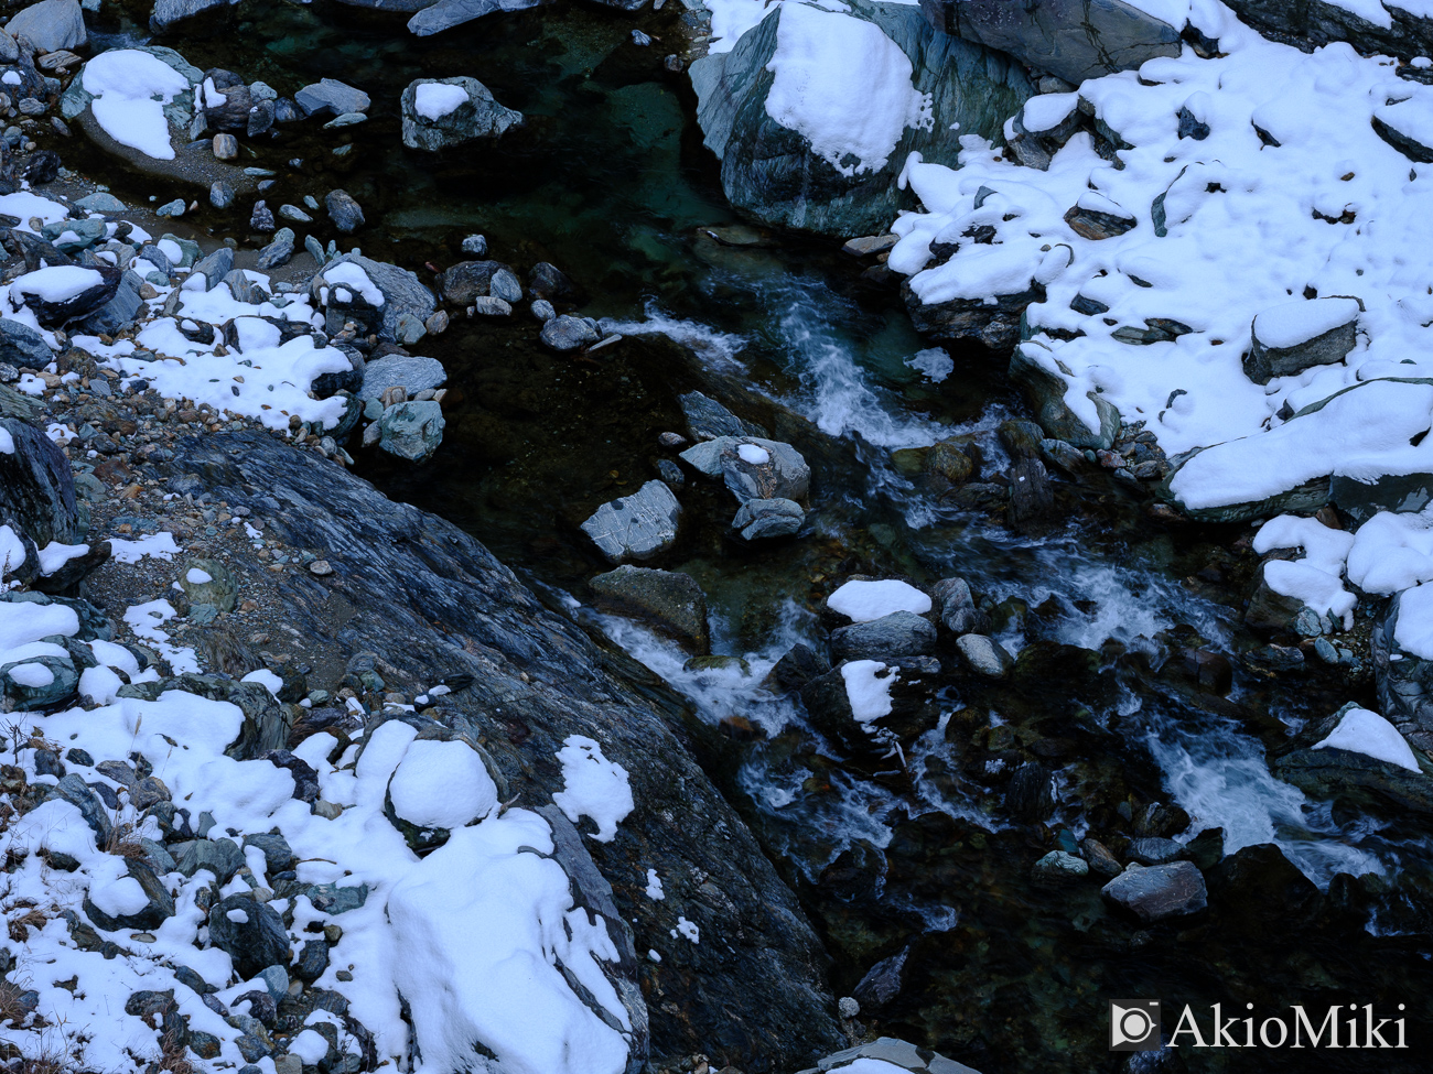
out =
{"type": "Polygon", "coordinates": [[[1121,0],[921,0],[946,33],[1007,52],[1069,83],[1179,54],[1179,30],[1121,0]]]}

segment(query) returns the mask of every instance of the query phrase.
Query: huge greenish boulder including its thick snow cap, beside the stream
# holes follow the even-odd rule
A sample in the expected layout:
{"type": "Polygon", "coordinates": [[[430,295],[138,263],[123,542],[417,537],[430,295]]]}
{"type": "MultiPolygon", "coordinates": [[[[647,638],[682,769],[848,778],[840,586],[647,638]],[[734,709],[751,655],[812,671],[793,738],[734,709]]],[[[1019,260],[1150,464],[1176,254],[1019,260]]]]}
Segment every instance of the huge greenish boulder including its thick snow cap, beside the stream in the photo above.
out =
{"type": "Polygon", "coordinates": [[[999,139],[1033,93],[1017,64],[933,32],[919,9],[866,0],[850,16],[784,4],[691,74],[731,203],[764,223],[843,238],[886,229],[906,203],[896,178],[910,152],[954,162],[960,135],[999,139]],[[811,70],[794,60],[768,70],[778,49],[807,47],[817,72],[840,72],[831,84],[804,83],[811,70]],[[860,109],[860,130],[837,129],[838,115],[860,109]]]}

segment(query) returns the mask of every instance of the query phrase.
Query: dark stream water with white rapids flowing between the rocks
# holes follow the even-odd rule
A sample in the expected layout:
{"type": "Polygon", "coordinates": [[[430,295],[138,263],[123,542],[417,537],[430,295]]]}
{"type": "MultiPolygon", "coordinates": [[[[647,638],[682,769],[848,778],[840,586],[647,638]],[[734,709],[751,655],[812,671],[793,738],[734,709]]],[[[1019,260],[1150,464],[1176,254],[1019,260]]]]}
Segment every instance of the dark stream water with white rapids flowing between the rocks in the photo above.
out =
{"type": "MultiPolygon", "coordinates": [[[[877,962],[900,961],[898,994],[863,1011],[864,1027],[984,1074],[1426,1070],[1426,1051],[1419,1061],[1320,1053],[1317,1063],[1288,1051],[1181,1050],[1149,1061],[1106,1051],[1105,1001],[1129,995],[1201,1012],[1214,1002],[1241,1012],[1245,1002],[1404,1002],[1410,1021],[1433,1024],[1424,835],[1311,802],[1267,759],[1347,700],[1374,707],[1371,687],[1331,674],[1290,684],[1237,659],[1227,695],[1179,677],[1179,652],[1237,657],[1254,644],[1240,624],[1252,556],[1235,533],[1168,528],[1101,487],[1066,490],[1062,523],[1019,536],[907,475],[894,453],[950,435],[969,437],[983,473],[997,474],[996,427],[1023,417],[1022,402],[1002,362],[979,348],[952,351],[954,371],[940,384],[909,365],[927,344],[898,296],[864,284],[834,243],[731,246],[702,231],[737,221],[685,76],[662,66],[678,50],[675,7],[638,20],[671,47],[639,49],[631,16],[579,4],[420,40],[403,16],[278,0],[246,0],[236,33],[169,42],[199,67],[284,93],[330,76],[373,96],[368,123],[285,132],[258,152],[257,163],[281,173],[272,203],[342,186],[368,213],[364,252],[420,275],[426,262],[459,261],[461,238],[483,232],[492,256],[566,271],[582,312],[626,337],[573,362],[539,347],[522,315],[459,319],[418,348],[450,372],[438,455],[414,470],[364,454],[360,471],[466,526],[689,699],[694,725],[709,729],[714,775],[823,931],[838,994],[877,962]],[[403,86],[459,73],[520,109],[526,129],[436,159],[404,152],[403,86]],[[355,150],[334,156],[347,142],[355,150]],[[676,395],[692,388],[772,425],[814,471],[810,528],[777,547],[725,536],[734,505],[724,490],[682,493],[685,531],[662,566],[702,583],[714,652],[745,669],[688,669],[675,644],[582,606],[586,580],[606,564],[577,524],[655,475],[665,455],[656,437],[685,427],[676,395]],[[1197,580],[1211,569],[1225,584],[1197,580]],[[761,682],[794,643],[824,649],[821,600],[857,573],[964,577],[1022,656],[1015,680],[944,689],[898,758],[850,756],[794,697],[761,682]],[[1022,750],[1056,773],[1055,813],[1037,825],[1005,805],[1022,750]],[[1287,885],[1252,884],[1212,922],[1139,929],[1102,906],[1098,884],[1032,884],[1032,862],[1050,849],[1119,818],[1152,828],[1151,803],[1188,813],[1159,833],[1218,828],[1225,853],[1275,843],[1326,894],[1293,906],[1287,885]],[[1350,886],[1340,874],[1364,879],[1350,886]]],[[[138,34],[112,29],[119,42],[138,34]]],[[[153,183],[112,186],[143,198],[153,183]]],[[[214,233],[246,238],[222,225],[214,233]]],[[[321,225],[315,233],[334,238],[321,225]]]]}

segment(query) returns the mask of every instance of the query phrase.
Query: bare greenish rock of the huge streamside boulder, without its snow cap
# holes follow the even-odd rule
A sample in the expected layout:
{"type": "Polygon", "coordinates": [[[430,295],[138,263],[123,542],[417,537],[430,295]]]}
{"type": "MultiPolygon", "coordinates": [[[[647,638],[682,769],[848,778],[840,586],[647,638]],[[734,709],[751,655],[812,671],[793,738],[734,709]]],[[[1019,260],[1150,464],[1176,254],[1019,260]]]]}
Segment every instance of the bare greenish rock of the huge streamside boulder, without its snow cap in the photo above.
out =
{"type": "MultiPolygon", "coordinates": [[[[860,170],[850,160],[818,156],[805,136],[767,110],[778,32],[800,14],[778,9],[731,52],[711,53],[691,66],[698,122],[721,160],[722,189],[739,212],[761,223],[841,238],[883,232],[903,203],[896,179],[911,152],[946,159],[960,135],[997,140],[1006,116],[1035,92],[1019,64],[934,32],[914,6],[856,0],[850,14],[874,23],[906,54],[914,90],[931,95],[940,116],[933,126],[904,127],[886,160],[857,162],[866,165],[860,170]],[[953,123],[959,132],[950,129],[953,123]]],[[[823,17],[843,16],[807,16],[798,24],[823,17]]]]}

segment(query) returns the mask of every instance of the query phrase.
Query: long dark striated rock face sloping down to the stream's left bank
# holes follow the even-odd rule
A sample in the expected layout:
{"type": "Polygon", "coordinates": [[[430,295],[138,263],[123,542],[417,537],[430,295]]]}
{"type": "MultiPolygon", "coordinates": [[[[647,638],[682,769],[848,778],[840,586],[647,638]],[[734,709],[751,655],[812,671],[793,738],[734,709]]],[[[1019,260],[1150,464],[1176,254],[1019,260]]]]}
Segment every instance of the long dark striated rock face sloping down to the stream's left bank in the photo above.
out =
{"type": "MultiPolygon", "coordinates": [[[[344,646],[394,664],[396,686],[431,684],[434,669],[471,676],[471,686],[444,699],[446,719],[484,736],[509,796],[549,800],[560,789],[556,766],[533,759],[555,756],[570,735],[599,737],[605,756],[626,769],[636,811],[612,842],[583,839],[576,851],[612,884],[620,918],[638,919],[638,951],[671,951],[678,915],[702,935],[701,944],[682,941],[681,959],[641,968],[649,994],[661,990],[671,1002],[649,1008],[653,1055],[685,1055],[721,1040],[741,1068],[764,1060],[798,1070],[810,1054],[844,1042],[824,982],[827,955],[795,896],[678,737],[692,719],[681,699],[659,684],[626,682],[625,656],[547,611],[471,536],[385,500],[330,463],[248,432],[185,440],[175,451],[173,477],[206,474],[215,498],[249,508],[278,540],[347,564],[345,600],[357,613],[342,627],[344,646]],[[649,868],[662,876],[701,871],[722,898],[702,901],[669,884],[653,904],[643,894],[649,868]]],[[[285,587],[278,600],[272,613],[295,630],[332,634],[340,606],[321,590],[285,587]]],[[[557,839],[557,823],[547,819],[557,839]]],[[[620,944],[610,924],[609,934],[620,944]]]]}

